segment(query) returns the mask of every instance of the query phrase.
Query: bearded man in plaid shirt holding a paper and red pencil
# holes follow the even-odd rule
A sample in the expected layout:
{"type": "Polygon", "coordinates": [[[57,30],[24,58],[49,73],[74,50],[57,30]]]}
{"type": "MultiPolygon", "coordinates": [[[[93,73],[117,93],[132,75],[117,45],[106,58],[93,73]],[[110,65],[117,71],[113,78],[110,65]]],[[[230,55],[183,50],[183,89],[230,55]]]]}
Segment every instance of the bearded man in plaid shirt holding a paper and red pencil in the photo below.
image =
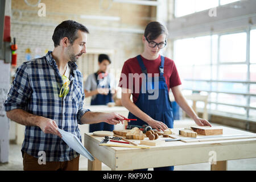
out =
{"type": "Polygon", "coordinates": [[[88,29],[73,20],[60,23],[52,36],[53,51],[24,62],[16,70],[5,110],[8,118],[26,126],[22,144],[24,170],[79,169],[79,154],[61,139],[58,128],[81,140],[78,124],[123,123],[122,115],[82,107],[83,77],[76,61],[86,53],[87,34],[88,29]],[[63,76],[69,82],[64,82],[63,76]],[[64,97],[63,90],[67,92],[64,97]],[[42,151],[46,164],[38,163],[42,151]]]}

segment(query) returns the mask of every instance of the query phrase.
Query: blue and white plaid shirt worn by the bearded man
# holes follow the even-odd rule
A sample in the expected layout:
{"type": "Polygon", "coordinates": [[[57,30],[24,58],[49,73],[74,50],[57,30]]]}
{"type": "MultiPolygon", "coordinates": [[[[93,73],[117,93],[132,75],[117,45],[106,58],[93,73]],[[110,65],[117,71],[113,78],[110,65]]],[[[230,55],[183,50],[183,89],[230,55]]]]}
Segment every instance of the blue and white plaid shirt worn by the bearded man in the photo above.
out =
{"type": "MultiPolygon", "coordinates": [[[[59,69],[49,51],[46,56],[24,62],[16,70],[13,84],[5,101],[5,110],[23,109],[28,113],[54,120],[59,129],[75,134],[81,140],[78,124],[86,113],[83,109],[84,90],[82,73],[76,63],[69,62],[71,74],[69,93],[59,97],[64,84],[59,69]]],[[[39,158],[46,152],[46,161],[63,162],[79,154],[57,135],[45,134],[37,126],[26,126],[22,151],[39,158]]]]}

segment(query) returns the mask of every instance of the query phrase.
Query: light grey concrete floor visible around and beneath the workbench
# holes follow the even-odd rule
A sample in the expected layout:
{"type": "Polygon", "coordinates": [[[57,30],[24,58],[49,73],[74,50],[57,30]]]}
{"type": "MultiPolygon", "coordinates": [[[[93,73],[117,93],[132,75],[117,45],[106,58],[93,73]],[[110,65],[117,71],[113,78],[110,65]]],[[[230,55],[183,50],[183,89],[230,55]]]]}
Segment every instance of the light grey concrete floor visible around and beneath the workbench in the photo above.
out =
{"type": "MultiPolygon", "coordinates": [[[[9,150],[9,163],[0,164],[0,171],[22,171],[22,155],[20,152],[21,145],[18,144],[10,144],[9,150]]],[[[84,156],[80,156],[79,162],[80,171],[87,171],[87,163],[88,159],[84,156]]],[[[210,164],[209,163],[199,163],[199,164],[188,164],[182,166],[175,166],[175,171],[209,171],[210,164]]],[[[109,171],[110,168],[105,164],[102,164],[102,170],[109,171]]],[[[251,159],[240,159],[240,160],[229,160],[228,161],[228,170],[229,171],[255,171],[256,170],[256,158],[251,159]]],[[[149,169],[152,171],[152,168],[149,169]]]]}

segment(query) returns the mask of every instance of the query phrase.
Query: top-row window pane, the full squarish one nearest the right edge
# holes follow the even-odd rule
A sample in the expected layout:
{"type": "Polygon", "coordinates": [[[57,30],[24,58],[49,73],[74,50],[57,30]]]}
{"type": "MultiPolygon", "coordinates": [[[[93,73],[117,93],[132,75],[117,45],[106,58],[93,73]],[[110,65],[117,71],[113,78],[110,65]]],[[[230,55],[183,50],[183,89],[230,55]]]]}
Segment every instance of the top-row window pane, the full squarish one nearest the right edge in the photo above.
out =
{"type": "Polygon", "coordinates": [[[243,62],[246,60],[246,33],[220,36],[220,61],[243,62]]]}

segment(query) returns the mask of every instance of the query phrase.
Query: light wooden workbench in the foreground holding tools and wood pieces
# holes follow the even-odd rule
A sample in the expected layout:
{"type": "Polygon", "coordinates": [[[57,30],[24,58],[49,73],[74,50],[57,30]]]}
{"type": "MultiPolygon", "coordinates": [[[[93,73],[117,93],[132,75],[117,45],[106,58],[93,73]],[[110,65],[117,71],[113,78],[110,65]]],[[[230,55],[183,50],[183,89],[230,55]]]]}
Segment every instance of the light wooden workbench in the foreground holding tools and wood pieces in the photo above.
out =
{"type": "MultiPolygon", "coordinates": [[[[227,160],[256,158],[256,134],[228,127],[224,127],[224,131],[241,136],[166,142],[162,146],[141,149],[99,146],[104,137],[85,133],[85,148],[96,158],[93,162],[88,160],[88,170],[101,170],[101,163],[112,170],[132,170],[205,163],[212,161],[211,158],[217,160],[216,164],[211,164],[212,170],[226,170],[227,160]]],[[[133,141],[139,143],[139,140],[133,141]]]]}

